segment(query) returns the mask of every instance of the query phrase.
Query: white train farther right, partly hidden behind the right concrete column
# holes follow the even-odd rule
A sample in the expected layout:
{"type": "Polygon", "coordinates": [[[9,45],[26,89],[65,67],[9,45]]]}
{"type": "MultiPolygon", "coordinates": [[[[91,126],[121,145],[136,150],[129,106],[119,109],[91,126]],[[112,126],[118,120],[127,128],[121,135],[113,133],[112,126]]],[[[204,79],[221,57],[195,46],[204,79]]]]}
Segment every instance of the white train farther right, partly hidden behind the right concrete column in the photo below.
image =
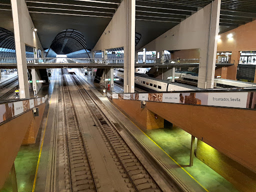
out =
{"type": "MultiPolygon", "coordinates": [[[[197,86],[198,74],[194,72],[175,72],[175,81],[197,86]],[[178,77],[178,78],[177,78],[178,77]]],[[[230,80],[224,78],[214,79],[214,88],[232,88],[232,87],[256,87],[256,83],[244,82],[239,80],[230,80]]]]}

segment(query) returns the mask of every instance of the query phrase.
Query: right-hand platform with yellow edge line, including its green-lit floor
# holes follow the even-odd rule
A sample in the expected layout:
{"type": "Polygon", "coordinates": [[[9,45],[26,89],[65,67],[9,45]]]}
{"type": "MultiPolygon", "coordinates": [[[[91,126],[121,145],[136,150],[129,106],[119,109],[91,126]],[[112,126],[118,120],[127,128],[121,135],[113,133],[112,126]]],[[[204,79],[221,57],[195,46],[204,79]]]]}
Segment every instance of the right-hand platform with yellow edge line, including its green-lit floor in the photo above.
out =
{"type": "MultiPolygon", "coordinates": [[[[126,131],[128,131],[129,134],[133,134],[140,142],[142,141],[143,145],[149,148],[153,156],[157,156],[157,159],[161,161],[164,166],[172,169],[172,174],[180,178],[190,177],[188,182],[198,184],[198,186],[202,187],[202,191],[239,191],[233,184],[198,158],[195,157],[193,166],[189,166],[191,140],[189,133],[179,127],[162,127],[160,129],[143,131],[119,111],[109,99],[102,97],[101,89],[94,87],[92,83],[90,83],[90,85],[90,89],[100,98],[107,110],[110,110],[116,115],[118,120],[125,123],[125,127],[128,129],[126,131]],[[173,167],[176,168],[173,169],[173,167]]],[[[118,123],[118,120],[116,123],[118,123]]]]}

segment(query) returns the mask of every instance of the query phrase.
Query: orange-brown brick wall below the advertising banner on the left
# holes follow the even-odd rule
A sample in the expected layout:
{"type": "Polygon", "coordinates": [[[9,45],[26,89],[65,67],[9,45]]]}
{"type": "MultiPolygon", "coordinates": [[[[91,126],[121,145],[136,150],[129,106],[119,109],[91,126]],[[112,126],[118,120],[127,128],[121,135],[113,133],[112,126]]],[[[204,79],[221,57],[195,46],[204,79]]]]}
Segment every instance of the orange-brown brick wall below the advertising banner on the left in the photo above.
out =
{"type": "Polygon", "coordinates": [[[45,103],[40,104],[39,116],[28,110],[0,124],[0,188],[9,175],[21,144],[34,143],[40,126],[45,103]]]}

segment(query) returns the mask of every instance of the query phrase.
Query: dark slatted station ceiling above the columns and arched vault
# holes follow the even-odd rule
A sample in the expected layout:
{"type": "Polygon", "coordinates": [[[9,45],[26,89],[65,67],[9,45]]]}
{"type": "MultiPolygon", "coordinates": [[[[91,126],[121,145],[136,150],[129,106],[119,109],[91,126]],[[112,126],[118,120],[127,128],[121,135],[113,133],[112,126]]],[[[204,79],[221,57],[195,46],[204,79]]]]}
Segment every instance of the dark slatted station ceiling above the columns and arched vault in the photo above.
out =
{"type": "MultiPolygon", "coordinates": [[[[43,48],[60,31],[76,29],[87,49],[96,44],[121,0],[25,0],[43,48]]],[[[219,33],[256,18],[254,0],[221,0],[219,33]]],[[[135,30],[140,35],[136,49],[169,30],[211,0],[136,0],[135,30]]],[[[10,0],[1,0],[0,25],[13,31],[10,0]]]]}

